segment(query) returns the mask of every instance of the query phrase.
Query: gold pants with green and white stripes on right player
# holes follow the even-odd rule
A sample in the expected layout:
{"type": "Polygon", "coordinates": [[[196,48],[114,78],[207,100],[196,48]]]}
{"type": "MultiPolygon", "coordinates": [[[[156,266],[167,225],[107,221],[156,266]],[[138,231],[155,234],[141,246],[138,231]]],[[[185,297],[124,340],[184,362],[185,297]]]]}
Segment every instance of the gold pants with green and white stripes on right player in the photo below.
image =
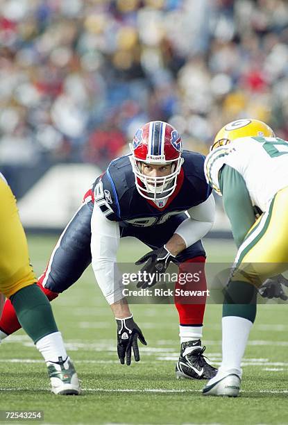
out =
{"type": "Polygon", "coordinates": [[[237,252],[232,280],[259,287],[288,269],[288,187],[277,192],[237,252]]]}

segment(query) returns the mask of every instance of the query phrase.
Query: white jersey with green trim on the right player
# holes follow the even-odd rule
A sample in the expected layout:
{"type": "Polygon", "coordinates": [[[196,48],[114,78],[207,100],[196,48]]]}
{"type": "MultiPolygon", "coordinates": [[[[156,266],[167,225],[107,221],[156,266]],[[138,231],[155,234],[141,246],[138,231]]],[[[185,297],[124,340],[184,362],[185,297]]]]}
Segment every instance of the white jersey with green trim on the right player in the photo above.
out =
{"type": "Polygon", "coordinates": [[[240,138],[210,152],[205,177],[219,194],[219,170],[224,164],[242,175],[253,206],[263,212],[278,190],[288,186],[288,142],[280,138],[240,138]]]}

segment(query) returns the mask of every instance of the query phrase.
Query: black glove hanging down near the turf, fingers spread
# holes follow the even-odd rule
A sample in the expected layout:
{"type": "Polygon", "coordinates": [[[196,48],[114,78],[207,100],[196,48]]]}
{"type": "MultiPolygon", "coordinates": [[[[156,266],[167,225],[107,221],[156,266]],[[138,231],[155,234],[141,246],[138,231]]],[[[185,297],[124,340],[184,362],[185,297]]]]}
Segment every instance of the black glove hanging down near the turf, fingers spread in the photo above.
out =
{"type": "Polygon", "coordinates": [[[134,352],[135,362],[139,362],[139,348],[138,348],[138,338],[142,344],[147,345],[144,335],[135,324],[133,317],[127,317],[126,319],[116,319],[117,322],[117,353],[120,359],[121,365],[125,363],[130,366],[131,363],[131,349],[134,352]]]}

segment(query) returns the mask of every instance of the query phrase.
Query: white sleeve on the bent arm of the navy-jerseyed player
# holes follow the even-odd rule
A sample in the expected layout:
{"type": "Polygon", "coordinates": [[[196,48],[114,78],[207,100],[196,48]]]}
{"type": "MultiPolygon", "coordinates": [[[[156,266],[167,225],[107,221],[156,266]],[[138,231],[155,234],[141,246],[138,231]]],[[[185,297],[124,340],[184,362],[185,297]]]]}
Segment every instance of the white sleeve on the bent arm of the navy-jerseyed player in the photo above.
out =
{"type": "Polygon", "coordinates": [[[175,233],[181,236],[186,248],[203,238],[214,223],[215,200],[213,194],[206,201],[188,210],[189,218],[182,222],[175,233]]]}

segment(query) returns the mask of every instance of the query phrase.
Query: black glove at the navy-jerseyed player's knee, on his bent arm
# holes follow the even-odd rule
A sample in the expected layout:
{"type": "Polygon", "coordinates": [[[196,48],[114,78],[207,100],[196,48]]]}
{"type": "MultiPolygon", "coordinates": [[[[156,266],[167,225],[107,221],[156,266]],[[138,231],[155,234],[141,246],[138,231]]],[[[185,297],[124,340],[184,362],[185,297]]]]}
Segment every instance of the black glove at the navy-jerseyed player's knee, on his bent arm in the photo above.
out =
{"type": "Polygon", "coordinates": [[[165,272],[173,258],[175,258],[175,256],[172,256],[164,245],[162,248],[154,249],[146,253],[142,258],[136,261],[135,265],[146,263],[140,270],[142,281],[137,283],[137,288],[144,289],[154,286],[159,281],[158,274],[165,272]]]}

